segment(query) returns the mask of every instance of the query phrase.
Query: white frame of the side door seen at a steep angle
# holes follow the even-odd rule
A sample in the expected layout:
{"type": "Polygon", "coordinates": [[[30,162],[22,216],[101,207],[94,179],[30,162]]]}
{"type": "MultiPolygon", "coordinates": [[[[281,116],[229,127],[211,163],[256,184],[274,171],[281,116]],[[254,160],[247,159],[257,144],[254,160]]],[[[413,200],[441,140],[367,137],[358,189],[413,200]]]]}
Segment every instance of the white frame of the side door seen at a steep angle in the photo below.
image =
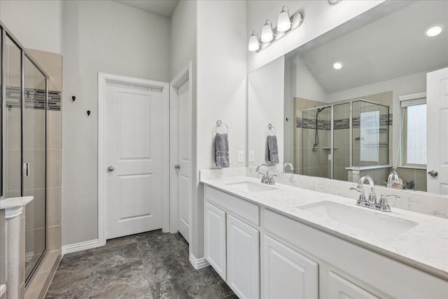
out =
{"type": "MultiPolygon", "coordinates": [[[[170,137],[170,151],[169,151],[169,178],[170,178],[170,186],[169,186],[169,204],[170,204],[170,221],[169,228],[170,232],[177,232],[179,229],[178,218],[179,218],[179,196],[178,196],[178,175],[176,169],[174,169],[174,165],[178,162],[178,107],[179,107],[179,88],[185,81],[189,80],[188,83],[188,99],[189,109],[187,113],[190,113],[190,116],[193,113],[193,83],[192,83],[192,63],[188,62],[181,71],[174,77],[174,79],[169,84],[169,135],[170,137]]],[[[193,135],[193,119],[192,119],[192,127],[191,134],[193,135]]],[[[191,136],[193,137],[193,136],[191,136]]],[[[193,138],[192,145],[190,146],[190,180],[193,181],[193,138]]],[[[191,202],[193,201],[193,183],[190,186],[190,204],[189,204],[189,219],[190,229],[188,232],[188,239],[191,242],[191,202]]]]}

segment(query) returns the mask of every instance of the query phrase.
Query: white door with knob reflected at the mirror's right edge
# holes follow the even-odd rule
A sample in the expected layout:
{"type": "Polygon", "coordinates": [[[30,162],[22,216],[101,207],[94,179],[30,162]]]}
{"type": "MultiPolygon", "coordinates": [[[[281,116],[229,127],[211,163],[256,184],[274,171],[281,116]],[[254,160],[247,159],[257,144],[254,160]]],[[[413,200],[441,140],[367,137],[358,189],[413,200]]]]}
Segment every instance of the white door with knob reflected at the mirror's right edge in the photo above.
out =
{"type": "Polygon", "coordinates": [[[426,105],[428,192],[448,195],[448,68],[427,74],[426,105]]]}

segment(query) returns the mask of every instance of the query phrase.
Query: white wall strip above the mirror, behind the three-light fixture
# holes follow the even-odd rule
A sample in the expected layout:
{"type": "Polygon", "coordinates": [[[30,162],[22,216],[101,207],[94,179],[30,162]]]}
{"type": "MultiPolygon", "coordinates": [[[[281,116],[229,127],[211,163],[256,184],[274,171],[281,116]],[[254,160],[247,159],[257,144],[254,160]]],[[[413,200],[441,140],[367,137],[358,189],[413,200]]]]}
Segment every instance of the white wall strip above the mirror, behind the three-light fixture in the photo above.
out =
{"type": "Polygon", "coordinates": [[[260,34],[266,19],[272,20],[276,27],[277,19],[283,5],[288,6],[290,15],[300,12],[304,15],[302,25],[295,31],[283,37],[273,45],[260,53],[248,52],[247,50],[247,70],[250,73],[258,67],[275,60],[281,55],[285,55],[311,39],[328,32],[330,29],[356,17],[384,0],[365,1],[341,1],[335,6],[328,4],[327,0],[307,0],[307,1],[275,1],[275,0],[251,0],[247,1],[247,41],[253,30],[260,34]]]}

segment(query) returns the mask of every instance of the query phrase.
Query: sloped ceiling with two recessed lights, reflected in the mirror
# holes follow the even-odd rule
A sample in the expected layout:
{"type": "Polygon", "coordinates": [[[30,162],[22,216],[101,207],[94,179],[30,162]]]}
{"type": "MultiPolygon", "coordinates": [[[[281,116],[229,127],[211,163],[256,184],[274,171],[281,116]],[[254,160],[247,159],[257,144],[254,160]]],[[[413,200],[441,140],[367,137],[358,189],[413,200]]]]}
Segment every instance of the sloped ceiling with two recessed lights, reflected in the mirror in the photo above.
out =
{"type": "Polygon", "coordinates": [[[439,69],[448,65],[447,12],[448,1],[418,1],[296,53],[328,94],[439,69]],[[442,34],[426,36],[435,24],[444,25],[442,34]]]}

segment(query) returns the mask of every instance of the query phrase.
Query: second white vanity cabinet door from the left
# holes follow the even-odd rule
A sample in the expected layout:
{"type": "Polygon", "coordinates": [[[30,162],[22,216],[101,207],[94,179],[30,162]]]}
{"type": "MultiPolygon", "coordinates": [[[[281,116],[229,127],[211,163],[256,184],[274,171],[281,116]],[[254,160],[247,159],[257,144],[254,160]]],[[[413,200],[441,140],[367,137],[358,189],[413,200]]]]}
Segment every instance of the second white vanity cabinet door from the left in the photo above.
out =
{"type": "Polygon", "coordinates": [[[239,298],[260,297],[259,232],[228,216],[228,285],[239,298]]]}

